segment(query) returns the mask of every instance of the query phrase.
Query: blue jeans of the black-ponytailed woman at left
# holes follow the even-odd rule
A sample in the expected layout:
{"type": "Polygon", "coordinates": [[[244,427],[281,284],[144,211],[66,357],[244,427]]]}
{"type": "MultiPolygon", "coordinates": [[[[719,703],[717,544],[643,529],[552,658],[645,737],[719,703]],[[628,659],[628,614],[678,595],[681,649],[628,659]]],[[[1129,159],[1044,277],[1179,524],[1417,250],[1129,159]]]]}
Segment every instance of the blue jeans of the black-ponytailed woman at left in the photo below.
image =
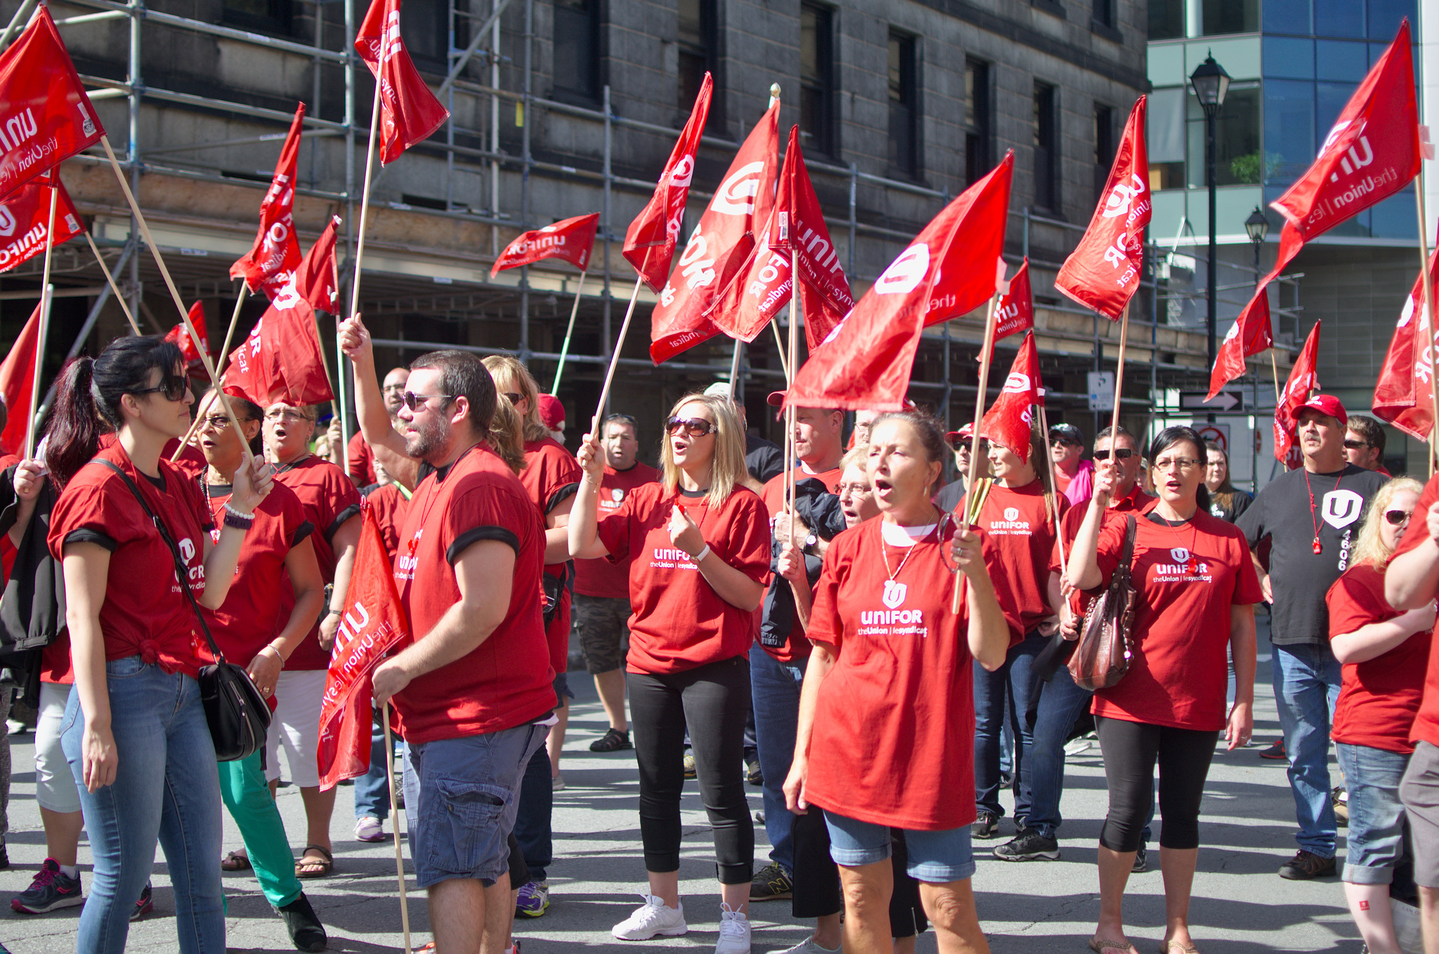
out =
{"type": "Polygon", "coordinates": [[[81,694],[65,707],[60,745],[79,786],[95,876],[81,911],[76,950],[119,954],[135,898],[165,852],[176,896],[176,931],[184,954],[224,954],[220,886],[220,776],[200,708],[200,685],[140,656],[105,663],[115,781],[86,791],[81,763],[85,717],[81,694]]]}

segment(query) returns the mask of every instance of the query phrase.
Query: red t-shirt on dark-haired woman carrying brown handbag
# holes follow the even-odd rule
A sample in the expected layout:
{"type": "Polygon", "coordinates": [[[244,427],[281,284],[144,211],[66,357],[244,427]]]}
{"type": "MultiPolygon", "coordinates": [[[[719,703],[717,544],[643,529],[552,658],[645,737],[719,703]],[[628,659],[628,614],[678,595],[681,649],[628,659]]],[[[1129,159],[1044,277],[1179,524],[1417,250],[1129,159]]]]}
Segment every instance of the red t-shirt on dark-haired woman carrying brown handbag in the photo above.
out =
{"type": "MultiPolygon", "coordinates": [[[[1259,578],[1245,534],[1197,511],[1179,527],[1135,517],[1130,672],[1094,695],[1094,714],[1196,731],[1225,728],[1229,681],[1229,607],[1259,603],[1259,578]]],[[[1099,567],[1108,586],[1124,545],[1125,521],[1099,531],[1099,567]]]]}

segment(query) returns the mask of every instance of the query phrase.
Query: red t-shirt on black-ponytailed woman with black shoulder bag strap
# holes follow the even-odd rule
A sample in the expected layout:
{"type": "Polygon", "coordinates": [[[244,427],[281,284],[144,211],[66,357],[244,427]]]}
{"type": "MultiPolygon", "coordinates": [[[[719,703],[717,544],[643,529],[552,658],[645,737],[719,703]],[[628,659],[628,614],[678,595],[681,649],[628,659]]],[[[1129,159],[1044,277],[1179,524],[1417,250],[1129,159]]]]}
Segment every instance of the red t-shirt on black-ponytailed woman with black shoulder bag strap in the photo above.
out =
{"type": "MultiPolygon", "coordinates": [[[[180,547],[190,586],[204,587],[204,534],[210,518],[196,482],[161,458],[165,485],[161,491],[135,469],[119,443],[101,450],[96,459],[109,460],[130,475],[180,547]]],[[[105,601],[99,607],[105,659],[138,655],[165,672],[199,675],[200,659],[191,640],[197,623],[176,578],[174,557],[118,473],[89,463],[71,479],[50,514],[47,542],[56,560],[63,558],[66,540],[109,550],[105,601]]]]}

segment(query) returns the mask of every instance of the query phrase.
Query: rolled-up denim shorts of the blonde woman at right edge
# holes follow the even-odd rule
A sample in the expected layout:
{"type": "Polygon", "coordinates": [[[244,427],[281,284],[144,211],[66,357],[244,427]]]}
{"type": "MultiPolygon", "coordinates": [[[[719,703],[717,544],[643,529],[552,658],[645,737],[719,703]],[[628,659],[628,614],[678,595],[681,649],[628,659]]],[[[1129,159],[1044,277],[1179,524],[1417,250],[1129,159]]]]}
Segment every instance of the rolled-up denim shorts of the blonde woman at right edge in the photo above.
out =
{"type": "Polygon", "coordinates": [[[1344,881],[1389,885],[1404,856],[1404,804],[1399,783],[1409,755],[1335,742],[1348,786],[1350,823],[1344,837],[1344,881]]]}

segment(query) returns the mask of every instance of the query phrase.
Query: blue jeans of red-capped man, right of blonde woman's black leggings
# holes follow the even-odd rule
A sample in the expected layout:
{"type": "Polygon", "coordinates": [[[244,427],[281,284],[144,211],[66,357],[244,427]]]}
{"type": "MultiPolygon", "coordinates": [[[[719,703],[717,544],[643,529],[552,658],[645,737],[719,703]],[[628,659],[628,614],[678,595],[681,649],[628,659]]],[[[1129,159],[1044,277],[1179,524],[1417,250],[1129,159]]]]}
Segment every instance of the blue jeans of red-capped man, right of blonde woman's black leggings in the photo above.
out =
{"type": "Polygon", "coordinates": [[[754,735],[760,745],[760,773],[764,776],[764,833],[770,837],[770,860],[791,878],[794,816],[784,807],[784,778],[794,761],[806,662],[809,658],[781,663],[758,643],[750,646],[750,698],[754,735]]]}

